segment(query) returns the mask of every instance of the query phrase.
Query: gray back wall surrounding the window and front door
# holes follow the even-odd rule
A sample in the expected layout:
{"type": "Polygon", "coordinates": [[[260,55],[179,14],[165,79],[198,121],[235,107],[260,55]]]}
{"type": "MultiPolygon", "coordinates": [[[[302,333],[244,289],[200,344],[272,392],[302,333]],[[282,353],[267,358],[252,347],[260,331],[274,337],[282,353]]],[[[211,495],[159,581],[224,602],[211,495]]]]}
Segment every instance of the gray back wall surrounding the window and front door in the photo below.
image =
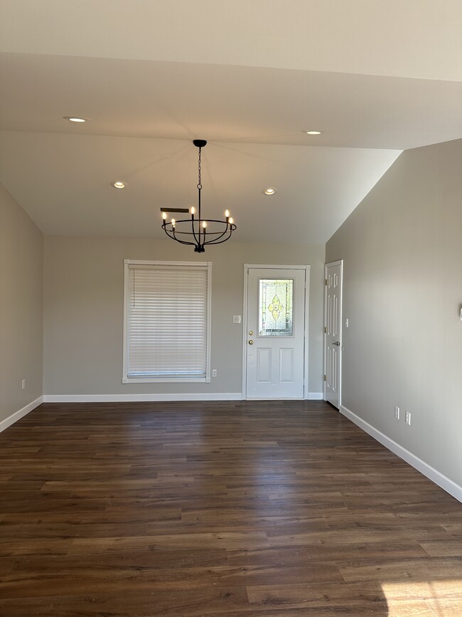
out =
{"type": "Polygon", "coordinates": [[[44,392],[53,394],[198,394],[242,391],[243,264],[310,264],[309,391],[322,392],[323,244],[240,243],[205,255],[170,240],[45,238],[44,392]],[[209,260],[212,273],[210,384],[122,384],[124,258],[209,260]]]}

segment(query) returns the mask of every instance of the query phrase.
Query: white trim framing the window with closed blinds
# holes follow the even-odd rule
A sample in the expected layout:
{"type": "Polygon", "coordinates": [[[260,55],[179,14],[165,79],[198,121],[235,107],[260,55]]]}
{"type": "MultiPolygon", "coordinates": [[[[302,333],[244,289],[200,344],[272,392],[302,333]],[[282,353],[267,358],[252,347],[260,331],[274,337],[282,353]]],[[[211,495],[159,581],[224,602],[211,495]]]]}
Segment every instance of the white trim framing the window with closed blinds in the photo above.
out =
{"type": "Polygon", "coordinates": [[[122,361],[122,384],[159,384],[159,383],[209,383],[210,382],[210,334],[212,332],[212,262],[211,261],[149,261],[144,259],[124,259],[124,334],[123,334],[123,361],[122,361]],[[128,332],[128,297],[129,297],[129,265],[181,265],[197,268],[198,265],[207,268],[207,364],[205,377],[127,377],[127,332],[128,332]]]}

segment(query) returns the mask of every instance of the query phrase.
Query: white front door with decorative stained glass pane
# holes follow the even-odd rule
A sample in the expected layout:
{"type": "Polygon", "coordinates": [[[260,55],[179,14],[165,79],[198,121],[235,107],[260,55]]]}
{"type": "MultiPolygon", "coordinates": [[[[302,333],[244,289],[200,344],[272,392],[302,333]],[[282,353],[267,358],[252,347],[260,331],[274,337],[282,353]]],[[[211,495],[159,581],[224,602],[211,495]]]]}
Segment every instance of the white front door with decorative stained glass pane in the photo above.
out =
{"type": "Polygon", "coordinates": [[[303,399],[306,270],[249,268],[246,398],[303,399]]]}

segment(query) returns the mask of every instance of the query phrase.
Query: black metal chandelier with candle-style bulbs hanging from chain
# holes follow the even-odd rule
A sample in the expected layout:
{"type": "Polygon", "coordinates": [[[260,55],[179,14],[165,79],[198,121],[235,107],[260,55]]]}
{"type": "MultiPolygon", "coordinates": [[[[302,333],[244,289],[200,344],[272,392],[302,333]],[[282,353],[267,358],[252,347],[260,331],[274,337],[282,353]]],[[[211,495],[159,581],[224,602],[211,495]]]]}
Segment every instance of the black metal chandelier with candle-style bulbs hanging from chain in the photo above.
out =
{"type": "Polygon", "coordinates": [[[190,244],[194,247],[195,253],[204,253],[205,245],[221,244],[229,240],[236,226],[228,210],[225,211],[225,221],[219,221],[217,218],[202,218],[200,211],[200,191],[202,191],[200,155],[207,142],[205,139],[194,139],[193,144],[199,148],[198,212],[196,213],[194,206],[191,208],[161,208],[162,229],[168,238],[172,238],[181,244],[190,244]],[[190,214],[190,218],[181,218],[178,221],[172,218],[171,221],[167,221],[167,213],[173,212],[187,212],[190,214]]]}

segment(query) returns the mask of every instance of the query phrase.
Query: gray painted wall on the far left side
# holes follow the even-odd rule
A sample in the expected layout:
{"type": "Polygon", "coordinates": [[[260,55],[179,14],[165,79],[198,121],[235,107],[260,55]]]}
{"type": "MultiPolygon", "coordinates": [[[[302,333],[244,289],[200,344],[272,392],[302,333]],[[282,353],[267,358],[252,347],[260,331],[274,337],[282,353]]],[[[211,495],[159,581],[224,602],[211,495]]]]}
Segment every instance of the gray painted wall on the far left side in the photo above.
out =
{"type": "Polygon", "coordinates": [[[0,289],[2,421],[42,394],[43,234],[1,184],[0,289]]]}

